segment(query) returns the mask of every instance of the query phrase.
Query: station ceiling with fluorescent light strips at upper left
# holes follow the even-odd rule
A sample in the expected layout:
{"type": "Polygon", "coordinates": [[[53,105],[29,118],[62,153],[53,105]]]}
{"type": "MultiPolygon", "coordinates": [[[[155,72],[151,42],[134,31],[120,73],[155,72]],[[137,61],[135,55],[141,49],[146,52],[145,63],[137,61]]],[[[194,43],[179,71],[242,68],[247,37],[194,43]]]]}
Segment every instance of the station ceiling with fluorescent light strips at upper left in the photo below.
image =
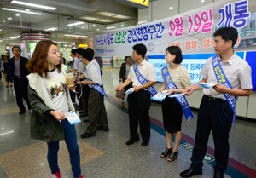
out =
{"type": "MultiPolygon", "coordinates": [[[[53,40],[77,40],[76,37],[64,37],[64,34],[86,35],[87,32],[102,31],[107,25],[122,22],[127,26],[135,25],[137,8],[110,0],[20,0],[26,3],[36,3],[57,8],[56,10],[30,8],[25,5],[10,3],[11,0],[0,1],[0,40],[9,40],[22,31],[56,28],[52,33],[53,40]],[[21,12],[36,12],[25,14],[3,10],[16,9],[21,12]],[[17,16],[19,15],[19,16],[17,16]],[[9,19],[11,18],[11,19],[9,19]],[[8,20],[9,19],[9,20],[8,20]],[[67,26],[77,21],[84,21],[79,26],[67,26]],[[133,22],[134,21],[134,22],[133,22]],[[129,25],[128,25],[129,24],[129,25]]],[[[80,38],[79,38],[80,39],[80,38]]],[[[78,39],[78,40],[79,40],[78,39]]],[[[82,39],[82,38],[81,38],[82,39]]],[[[18,39],[19,40],[19,39],[18,39]]],[[[83,39],[84,40],[84,39],[83,39]]]]}

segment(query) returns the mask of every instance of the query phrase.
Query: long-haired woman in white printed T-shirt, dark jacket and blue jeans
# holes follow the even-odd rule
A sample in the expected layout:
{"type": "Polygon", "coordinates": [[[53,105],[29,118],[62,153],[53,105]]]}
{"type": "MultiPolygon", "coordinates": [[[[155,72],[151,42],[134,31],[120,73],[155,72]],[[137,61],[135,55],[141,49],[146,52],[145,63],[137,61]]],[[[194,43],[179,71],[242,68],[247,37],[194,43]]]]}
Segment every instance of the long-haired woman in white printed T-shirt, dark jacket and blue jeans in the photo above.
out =
{"type": "Polygon", "coordinates": [[[45,40],[38,42],[27,64],[31,74],[28,97],[32,105],[31,137],[46,141],[51,177],[61,177],[58,166],[59,141],[65,140],[70,155],[73,177],[82,178],[80,153],[76,129],[65,118],[74,111],[66,82],[67,66],[61,64],[61,55],[56,43],[45,40]]]}

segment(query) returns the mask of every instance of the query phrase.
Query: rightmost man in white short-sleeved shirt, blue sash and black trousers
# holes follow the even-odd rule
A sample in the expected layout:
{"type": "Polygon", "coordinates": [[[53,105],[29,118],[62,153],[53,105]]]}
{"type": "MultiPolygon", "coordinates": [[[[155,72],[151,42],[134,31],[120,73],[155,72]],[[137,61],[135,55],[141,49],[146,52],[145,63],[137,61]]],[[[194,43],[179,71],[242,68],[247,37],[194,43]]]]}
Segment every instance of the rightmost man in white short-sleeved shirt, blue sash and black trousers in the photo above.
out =
{"type": "MultiPolygon", "coordinates": [[[[214,178],[224,177],[230,151],[229,133],[236,117],[237,96],[248,96],[252,93],[251,67],[233,49],[238,37],[236,28],[219,28],[213,37],[216,56],[207,60],[201,70],[203,79],[199,83],[215,85],[210,89],[203,89],[192,163],[189,169],[180,173],[181,177],[202,174],[202,161],[207,152],[211,130],[215,146],[214,178]]],[[[187,88],[184,93],[191,95],[197,89],[201,89],[198,83],[187,88]]]]}

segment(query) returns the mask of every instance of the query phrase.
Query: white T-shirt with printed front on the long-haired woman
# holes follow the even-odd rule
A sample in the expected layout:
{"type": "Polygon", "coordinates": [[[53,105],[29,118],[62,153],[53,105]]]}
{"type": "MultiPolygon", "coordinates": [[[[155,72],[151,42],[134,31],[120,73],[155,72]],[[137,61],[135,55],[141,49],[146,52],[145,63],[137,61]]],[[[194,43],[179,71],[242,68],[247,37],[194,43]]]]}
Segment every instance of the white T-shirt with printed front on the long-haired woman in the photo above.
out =
{"type": "Polygon", "coordinates": [[[43,81],[56,111],[61,113],[69,112],[67,83],[64,74],[62,72],[59,73],[58,69],[55,68],[54,71],[48,72],[47,75],[49,78],[45,78],[43,75],[43,81]]]}

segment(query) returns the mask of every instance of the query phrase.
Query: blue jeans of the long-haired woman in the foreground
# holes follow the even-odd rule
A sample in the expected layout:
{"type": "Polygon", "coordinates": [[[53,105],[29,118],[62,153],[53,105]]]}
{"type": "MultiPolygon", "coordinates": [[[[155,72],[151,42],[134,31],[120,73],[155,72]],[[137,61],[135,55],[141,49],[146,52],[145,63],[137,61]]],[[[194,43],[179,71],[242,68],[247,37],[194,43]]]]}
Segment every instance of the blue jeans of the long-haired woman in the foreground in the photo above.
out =
{"type": "MultiPolygon", "coordinates": [[[[73,177],[79,178],[81,175],[80,168],[80,153],[79,145],[77,142],[77,133],[74,125],[71,125],[67,119],[61,120],[62,128],[64,129],[65,142],[70,157],[70,164],[72,167],[73,177]]],[[[51,174],[58,172],[58,151],[59,151],[59,141],[52,141],[47,143],[48,145],[48,163],[51,170],[51,174]]]]}

